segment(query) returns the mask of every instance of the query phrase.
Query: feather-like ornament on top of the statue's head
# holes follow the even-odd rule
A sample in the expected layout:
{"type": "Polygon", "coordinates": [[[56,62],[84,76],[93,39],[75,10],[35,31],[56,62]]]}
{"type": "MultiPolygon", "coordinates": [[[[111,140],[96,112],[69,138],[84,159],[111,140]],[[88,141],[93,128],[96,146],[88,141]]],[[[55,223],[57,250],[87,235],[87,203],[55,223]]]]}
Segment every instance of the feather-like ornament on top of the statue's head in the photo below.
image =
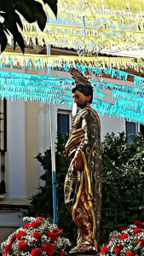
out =
{"type": "Polygon", "coordinates": [[[69,72],[72,74],[72,79],[75,79],[76,86],[78,84],[82,84],[84,86],[88,86],[91,90],[93,90],[93,86],[90,84],[88,79],[84,77],[84,74],[81,73],[77,68],[70,67],[69,72]]]}

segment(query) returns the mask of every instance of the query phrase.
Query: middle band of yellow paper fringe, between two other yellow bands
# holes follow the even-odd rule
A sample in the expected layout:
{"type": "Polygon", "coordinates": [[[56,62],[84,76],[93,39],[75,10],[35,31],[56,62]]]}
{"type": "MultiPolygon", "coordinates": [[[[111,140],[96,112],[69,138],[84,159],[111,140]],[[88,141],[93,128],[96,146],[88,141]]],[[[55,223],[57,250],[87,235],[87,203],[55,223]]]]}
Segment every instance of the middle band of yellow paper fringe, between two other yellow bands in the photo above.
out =
{"type": "MultiPolygon", "coordinates": [[[[143,24],[144,25],[144,24],[143,24]]],[[[37,23],[29,24],[23,21],[24,30],[21,31],[26,44],[53,45],[57,48],[82,49],[94,54],[102,50],[124,50],[144,48],[144,32],[124,31],[118,29],[104,29],[82,26],[66,26],[47,23],[40,32],[37,23]]],[[[144,26],[142,26],[144,27],[144,26]]],[[[9,44],[13,40],[8,36],[9,44]]]]}

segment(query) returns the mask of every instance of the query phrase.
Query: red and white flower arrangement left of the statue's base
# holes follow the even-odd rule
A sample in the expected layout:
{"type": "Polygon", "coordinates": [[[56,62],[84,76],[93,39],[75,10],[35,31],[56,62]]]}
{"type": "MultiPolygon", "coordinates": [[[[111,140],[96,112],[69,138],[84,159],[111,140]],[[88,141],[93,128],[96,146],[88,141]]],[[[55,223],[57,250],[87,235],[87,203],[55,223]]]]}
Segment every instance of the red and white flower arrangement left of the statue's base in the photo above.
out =
{"type": "Polygon", "coordinates": [[[64,255],[71,246],[55,224],[43,217],[24,218],[28,223],[16,230],[1,244],[3,256],[51,256],[64,255]]]}

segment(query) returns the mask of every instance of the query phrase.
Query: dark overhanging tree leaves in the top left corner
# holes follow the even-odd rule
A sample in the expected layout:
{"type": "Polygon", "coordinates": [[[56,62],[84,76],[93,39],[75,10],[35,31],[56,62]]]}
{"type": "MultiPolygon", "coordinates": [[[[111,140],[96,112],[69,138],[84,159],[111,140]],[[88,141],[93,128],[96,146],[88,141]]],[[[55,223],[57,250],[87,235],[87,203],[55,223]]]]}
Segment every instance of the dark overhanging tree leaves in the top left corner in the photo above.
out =
{"type": "MultiPolygon", "coordinates": [[[[57,15],[57,0],[43,0],[43,3],[47,3],[53,10],[55,16],[57,15]]],[[[0,17],[3,17],[3,21],[0,22],[0,44],[1,52],[6,48],[8,44],[7,34],[12,35],[15,45],[19,44],[20,49],[24,53],[24,39],[19,32],[19,27],[23,29],[22,22],[20,20],[19,12],[25,20],[29,23],[36,22],[39,28],[43,31],[47,16],[43,10],[43,5],[36,0],[7,0],[0,1],[0,17]]]]}

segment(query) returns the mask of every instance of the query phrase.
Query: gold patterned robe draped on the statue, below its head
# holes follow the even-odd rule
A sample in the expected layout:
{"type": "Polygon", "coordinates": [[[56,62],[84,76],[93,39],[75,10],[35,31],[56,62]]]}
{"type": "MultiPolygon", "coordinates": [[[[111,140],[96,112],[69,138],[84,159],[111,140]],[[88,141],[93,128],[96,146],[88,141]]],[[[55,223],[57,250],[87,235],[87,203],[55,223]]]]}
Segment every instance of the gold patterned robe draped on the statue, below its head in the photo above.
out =
{"type": "Polygon", "coordinates": [[[65,181],[65,202],[78,226],[78,246],[88,242],[99,247],[101,221],[101,137],[100,119],[93,108],[84,108],[75,119],[66,143],[70,165],[65,181]],[[72,162],[80,151],[84,170],[75,170],[72,162]]]}

